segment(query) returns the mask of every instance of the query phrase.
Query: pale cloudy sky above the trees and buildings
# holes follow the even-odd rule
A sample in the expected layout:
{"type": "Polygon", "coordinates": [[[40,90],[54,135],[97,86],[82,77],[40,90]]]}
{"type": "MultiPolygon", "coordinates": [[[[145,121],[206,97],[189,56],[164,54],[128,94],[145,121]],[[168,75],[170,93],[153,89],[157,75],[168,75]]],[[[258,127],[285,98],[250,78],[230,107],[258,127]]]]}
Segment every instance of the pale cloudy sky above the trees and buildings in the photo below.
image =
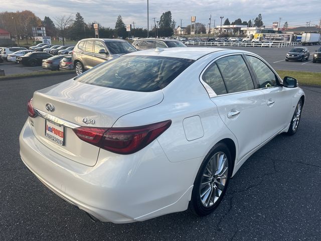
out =
{"type": "MultiPolygon", "coordinates": [[[[97,21],[104,27],[115,27],[118,15],[125,24],[135,23],[135,28],[147,28],[147,0],[110,1],[110,0],[1,0],[0,12],[30,10],[40,19],[45,16],[53,21],[55,17],[75,15],[79,12],[86,23],[97,21]]],[[[230,22],[240,18],[242,21],[255,19],[258,14],[269,27],[281,18],[280,26],[288,22],[289,27],[318,25],[321,19],[321,0],[149,0],[149,29],[154,20],[159,21],[162,13],[171,11],[172,19],[185,27],[190,24],[191,16],[196,22],[207,25],[212,15],[211,26],[220,25],[220,17],[230,22]]],[[[132,26],[133,27],[133,26],[132,26]]]]}

